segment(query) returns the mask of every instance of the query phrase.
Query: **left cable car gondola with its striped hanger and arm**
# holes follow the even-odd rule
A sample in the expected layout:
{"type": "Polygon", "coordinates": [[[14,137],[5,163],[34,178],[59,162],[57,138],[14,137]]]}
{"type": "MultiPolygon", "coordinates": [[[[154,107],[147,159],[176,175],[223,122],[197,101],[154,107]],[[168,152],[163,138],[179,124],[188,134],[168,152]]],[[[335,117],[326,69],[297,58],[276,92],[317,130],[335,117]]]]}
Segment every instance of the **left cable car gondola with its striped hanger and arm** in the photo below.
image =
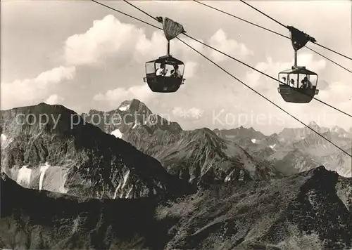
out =
{"type": "Polygon", "coordinates": [[[156,60],[146,62],[146,82],[153,92],[176,92],[184,84],[184,63],[170,55],[170,40],[184,32],[182,25],[169,18],[158,18],[163,22],[165,38],[168,41],[168,52],[156,60]]]}

